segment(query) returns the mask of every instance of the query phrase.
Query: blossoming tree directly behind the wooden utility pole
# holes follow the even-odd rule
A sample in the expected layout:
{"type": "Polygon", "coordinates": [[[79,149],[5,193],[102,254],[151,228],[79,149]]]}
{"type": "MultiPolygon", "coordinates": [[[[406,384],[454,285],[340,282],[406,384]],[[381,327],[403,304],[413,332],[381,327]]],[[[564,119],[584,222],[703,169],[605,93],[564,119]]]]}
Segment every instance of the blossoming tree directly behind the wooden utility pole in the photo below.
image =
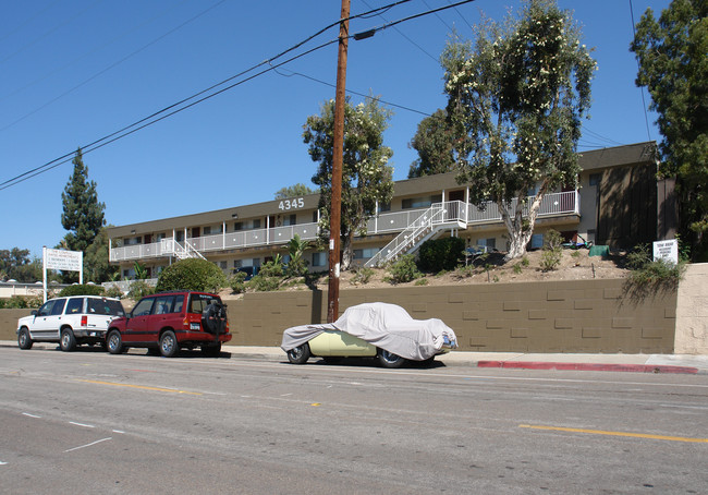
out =
{"type": "MultiPolygon", "coordinates": [[[[376,214],[376,204],[393,196],[393,168],[388,165],[393,152],[383,145],[383,131],[391,110],[379,107],[378,100],[366,98],[344,108],[344,158],[342,164],[342,269],[349,269],[354,257],[354,236],[366,233],[367,220],[376,214]]],[[[313,182],[320,188],[320,226],[329,230],[332,200],[332,146],[334,100],[325,102],[319,116],[310,116],[303,126],[303,141],[309,145],[313,161],[318,162],[313,182]]]]}

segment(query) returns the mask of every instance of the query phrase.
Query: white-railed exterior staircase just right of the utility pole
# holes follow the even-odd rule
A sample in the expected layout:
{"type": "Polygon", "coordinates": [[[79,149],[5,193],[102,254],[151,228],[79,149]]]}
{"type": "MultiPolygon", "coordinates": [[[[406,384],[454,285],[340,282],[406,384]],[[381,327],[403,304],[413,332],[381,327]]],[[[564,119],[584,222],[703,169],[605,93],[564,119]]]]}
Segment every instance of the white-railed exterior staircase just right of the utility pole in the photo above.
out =
{"type": "Polygon", "coordinates": [[[408,225],[391,242],[369,258],[364,266],[382,266],[404,254],[414,253],[420,244],[444,231],[467,226],[467,208],[461,201],[435,203],[408,225]]]}

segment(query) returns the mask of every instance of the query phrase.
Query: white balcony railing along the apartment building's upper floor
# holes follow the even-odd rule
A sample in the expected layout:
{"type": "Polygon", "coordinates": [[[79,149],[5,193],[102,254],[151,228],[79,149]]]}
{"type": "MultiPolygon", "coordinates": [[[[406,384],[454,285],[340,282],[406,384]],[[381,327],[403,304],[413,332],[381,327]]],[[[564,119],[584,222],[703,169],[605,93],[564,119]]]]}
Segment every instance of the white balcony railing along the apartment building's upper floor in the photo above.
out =
{"type": "MultiPolygon", "coordinates": [[[[533,196],[529,196],[528,200],[529,202],[527,204],[530,203],[533,196]]],[[[462,202],[448,202],[448,204],[450,206],[447,207],[447,210],[449,212],[451,219],[460,219],[467,225],[501,221],[499,208],[491,202],[483,209],[473,205],[467,205],[467,212],[464,212],[464,203],[462,202]],[[452,205],[455,205],[454,210],[452,205]]],[[[578,208],[579,194],[577,191],[552,193],[547,194],[541,201],[538,216],[577,215],[579,214],[578,208]]],[[[422,208],[380,214],[368,220],[367,234],[401,232],[418,219],[426,210],[427,208],[422,208]]],[[[526,212],[524,214],[526,214],[526,212]]],[[[295,234],[298,234],[302,240],[312,241],[317,239],[317,233],[318,226],[313,222],[274,227],[270,229],[239,230],[235,232],[219,233],[215,236],[190,238],[186,242],[179,242],[169,238],[150,244],[133,244],[113,247],[111,249],[110,261],[121,262],[151,257],[179,257],[179,253],[185,252],[190,249],[199,253],[208,253],[259,245],[285,244],[295,234]]]]}

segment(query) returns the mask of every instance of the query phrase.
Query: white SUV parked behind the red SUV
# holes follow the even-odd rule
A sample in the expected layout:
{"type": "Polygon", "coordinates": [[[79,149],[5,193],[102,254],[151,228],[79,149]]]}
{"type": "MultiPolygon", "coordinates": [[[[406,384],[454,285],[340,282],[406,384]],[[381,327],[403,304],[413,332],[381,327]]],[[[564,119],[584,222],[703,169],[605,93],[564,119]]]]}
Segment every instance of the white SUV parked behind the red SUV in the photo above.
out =
{"type": "Polygon", "coordinates": [[[50,299],[30,316],[17,321],[17,346],[32,349],[34,342],[59,342],[62,351],[76,346],[105,343],[113,318],[125,316],[118,299],[74,295],[50,299]]]}

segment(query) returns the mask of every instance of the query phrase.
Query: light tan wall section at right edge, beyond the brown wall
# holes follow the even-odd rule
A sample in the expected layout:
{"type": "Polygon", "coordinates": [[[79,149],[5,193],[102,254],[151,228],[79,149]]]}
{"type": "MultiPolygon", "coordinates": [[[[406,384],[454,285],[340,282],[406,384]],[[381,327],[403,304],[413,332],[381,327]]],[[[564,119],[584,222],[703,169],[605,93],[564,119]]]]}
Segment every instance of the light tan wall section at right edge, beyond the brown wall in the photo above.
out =
{"type": "Polygon", "coordinates": [[[679,286],[678,354],[708,354],[708,263],[688,265],[679,286]]]}

